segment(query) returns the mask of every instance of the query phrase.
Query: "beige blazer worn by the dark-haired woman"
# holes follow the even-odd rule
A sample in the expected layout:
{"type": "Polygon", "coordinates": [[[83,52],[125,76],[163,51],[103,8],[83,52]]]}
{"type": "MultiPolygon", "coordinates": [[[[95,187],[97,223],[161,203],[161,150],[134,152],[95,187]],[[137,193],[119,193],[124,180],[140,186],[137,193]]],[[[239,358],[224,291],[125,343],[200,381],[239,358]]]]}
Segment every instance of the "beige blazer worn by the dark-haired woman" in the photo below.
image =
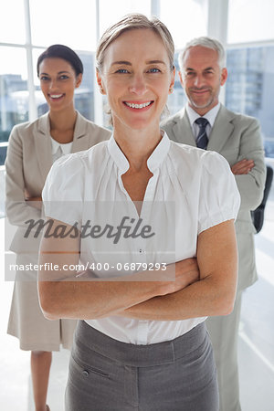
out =
{"type": "MultiPolygon", "coordinates": [[[[71,153],[88,150],[110,136],[110,131],[85,119],[78,112],[71,153]]],[[[48,113],[36,121],[16,125],[9,137],[5,160],[6,216],[10,224],[19,227],[10,247],[12,251],[29,251],[30,243],[25,239],[22,241],[22,234],[26,232],[26,221],[30,218],[37,220],[41,212],[27,205],[25,190],[32,197],[40,196],[51,165],[48,113]]]]}

